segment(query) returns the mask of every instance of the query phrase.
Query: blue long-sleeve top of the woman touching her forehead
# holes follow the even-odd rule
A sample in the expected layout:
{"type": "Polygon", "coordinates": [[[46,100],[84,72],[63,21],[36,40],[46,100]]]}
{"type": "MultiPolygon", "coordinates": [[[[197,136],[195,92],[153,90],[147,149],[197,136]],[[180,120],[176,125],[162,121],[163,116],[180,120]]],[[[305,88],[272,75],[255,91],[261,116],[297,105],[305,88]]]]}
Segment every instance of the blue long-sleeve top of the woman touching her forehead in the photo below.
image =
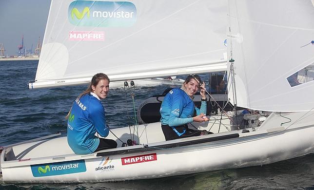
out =
{"type": "Polygon", "coordinates": [[[193,114],[206,115],[206,101],[201,102],[200,109],[196,108],[193,100],[182,89],[172,89],[163,99],[160,106],[161,124],[170,127],[193,122],[193,114]]]}

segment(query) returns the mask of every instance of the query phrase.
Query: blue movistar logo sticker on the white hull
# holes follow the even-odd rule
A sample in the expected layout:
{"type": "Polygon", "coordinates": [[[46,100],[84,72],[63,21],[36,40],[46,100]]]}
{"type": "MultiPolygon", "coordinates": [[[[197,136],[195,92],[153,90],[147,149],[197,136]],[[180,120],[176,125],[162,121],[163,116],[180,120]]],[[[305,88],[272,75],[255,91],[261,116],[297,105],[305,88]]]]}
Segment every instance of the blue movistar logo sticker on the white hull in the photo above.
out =
{"type": "Polygon", "coordinates": [[[34,177],[85,172],[84,160],[31,165],[34,177]]]}

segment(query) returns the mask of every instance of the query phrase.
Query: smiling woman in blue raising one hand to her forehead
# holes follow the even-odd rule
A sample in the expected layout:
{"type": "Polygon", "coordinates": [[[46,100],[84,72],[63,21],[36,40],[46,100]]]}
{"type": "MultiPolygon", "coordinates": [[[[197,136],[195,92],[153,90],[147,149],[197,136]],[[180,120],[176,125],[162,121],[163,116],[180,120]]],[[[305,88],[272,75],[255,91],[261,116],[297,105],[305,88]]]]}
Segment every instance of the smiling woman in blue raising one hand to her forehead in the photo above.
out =
{"type": "Polygon", "coordinates": [[[205,83],[198,75],[189,75],[181,88],[172,89],[164,97],[159,110],[161,129],[166,140],[200,135],[201,131],[188,129],[187,124],[193,121],[208,121],[205,116],[206,101],[205,83]],[[199,89],[202,96],[200,109],[196,108],[193,102],[199,89]],[[196,116],[193,116],[195,111],[196,116]]]}

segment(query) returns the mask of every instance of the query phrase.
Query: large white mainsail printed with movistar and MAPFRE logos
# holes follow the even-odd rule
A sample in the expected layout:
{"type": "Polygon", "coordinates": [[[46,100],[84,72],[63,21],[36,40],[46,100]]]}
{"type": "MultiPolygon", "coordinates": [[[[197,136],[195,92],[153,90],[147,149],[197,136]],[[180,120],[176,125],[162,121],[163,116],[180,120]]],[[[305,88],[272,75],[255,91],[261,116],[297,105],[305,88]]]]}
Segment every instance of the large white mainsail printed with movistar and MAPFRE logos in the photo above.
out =
{"type": "Polygon", "coordinates": [[[220,0],[52,0],[29,86],[226,70],[226,14],[220,0]]]}

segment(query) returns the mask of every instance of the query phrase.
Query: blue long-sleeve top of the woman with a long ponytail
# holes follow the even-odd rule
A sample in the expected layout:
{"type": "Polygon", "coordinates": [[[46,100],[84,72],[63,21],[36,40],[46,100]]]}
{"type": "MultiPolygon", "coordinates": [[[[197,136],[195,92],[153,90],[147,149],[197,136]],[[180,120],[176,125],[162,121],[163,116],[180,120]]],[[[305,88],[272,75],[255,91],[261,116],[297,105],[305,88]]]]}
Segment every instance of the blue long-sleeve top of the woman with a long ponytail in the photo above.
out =
{"type": "Polygon", "coordinates": [[[103,137],[109,134],[104,107],[97,95],[83,95],[73,103],[68,118],[67,139],[73,152],[95,152],[99,145],[96,132],[103,137]]]}

